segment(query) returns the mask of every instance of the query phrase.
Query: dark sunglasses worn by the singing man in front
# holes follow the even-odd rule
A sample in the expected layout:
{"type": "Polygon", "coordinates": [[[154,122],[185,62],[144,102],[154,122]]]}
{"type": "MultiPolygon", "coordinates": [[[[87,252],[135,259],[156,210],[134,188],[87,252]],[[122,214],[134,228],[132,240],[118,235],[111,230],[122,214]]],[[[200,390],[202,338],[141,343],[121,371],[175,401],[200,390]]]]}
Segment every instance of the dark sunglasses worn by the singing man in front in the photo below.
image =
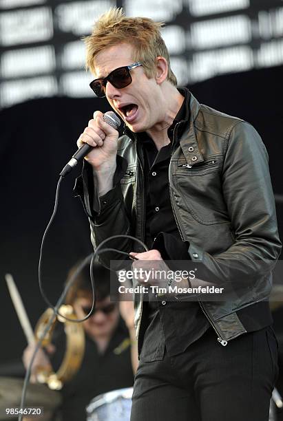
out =
{"type": "Polygon", "coordinates": [[[118,67],[118,69],[112,70],[106,78],[92,80],[90,87],[98,98],[103,98],[103,96],[105,96],[105,87],[108,81],[118,89],[126,87],[132,83],[132,76],[129,71],[138,66],[142,66],[142,63],[139,61],[129,66],[118,67]]]}

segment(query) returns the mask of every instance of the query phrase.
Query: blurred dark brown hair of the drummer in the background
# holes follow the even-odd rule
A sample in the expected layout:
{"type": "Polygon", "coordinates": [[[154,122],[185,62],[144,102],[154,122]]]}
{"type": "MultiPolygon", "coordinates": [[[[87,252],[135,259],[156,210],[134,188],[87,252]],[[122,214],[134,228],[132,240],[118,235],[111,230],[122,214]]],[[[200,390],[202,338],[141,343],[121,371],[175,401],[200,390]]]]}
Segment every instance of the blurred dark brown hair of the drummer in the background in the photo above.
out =
{"type": "MultiPolygon", "coordinates": [[[[70,270],[67,275],[66,283],[70,280],[78,265],[81,263],[76,263],[70,270]]],[[[94,292],[96,296],[96,301],[103,301],[107,296],[110,295],[110,285],[111,285],[111,298],[113,301],[118,301],[118,278],[114,271],[110,271],[101,263],[94,263],[94,292]]],[[[89,297],[92,294],[92,284],[90,280],[90,266],[85,266],[81,272],[78,273],[76,280],[70,287],[70,290],[67,292],[65,303],[73,304],[75,299],[81,297],[89,297]]]]}

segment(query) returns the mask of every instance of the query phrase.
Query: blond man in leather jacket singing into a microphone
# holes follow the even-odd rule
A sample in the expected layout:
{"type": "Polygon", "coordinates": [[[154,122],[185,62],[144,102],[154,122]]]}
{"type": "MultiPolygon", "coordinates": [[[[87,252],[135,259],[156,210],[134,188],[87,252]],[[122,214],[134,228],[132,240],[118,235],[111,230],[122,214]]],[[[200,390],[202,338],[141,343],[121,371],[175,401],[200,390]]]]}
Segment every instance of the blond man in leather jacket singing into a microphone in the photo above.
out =
{"type": "Polygon", "coordinates": [[[127,238],[107,246],[132,252],[136,268],[200,264],[207,283],[219,278],[235,293],[226,301],[135,294],[131,419],[266,421],[277,376],[268,296],[281,249],[266,149],[249,123],[177,89],[161,26],[114,8],[85,39],[90,86],[125,122],[118,138],[96,111],[78,139],[93,147],[81,179],[92,239],[133,235],[149,251],[127,238]]]}

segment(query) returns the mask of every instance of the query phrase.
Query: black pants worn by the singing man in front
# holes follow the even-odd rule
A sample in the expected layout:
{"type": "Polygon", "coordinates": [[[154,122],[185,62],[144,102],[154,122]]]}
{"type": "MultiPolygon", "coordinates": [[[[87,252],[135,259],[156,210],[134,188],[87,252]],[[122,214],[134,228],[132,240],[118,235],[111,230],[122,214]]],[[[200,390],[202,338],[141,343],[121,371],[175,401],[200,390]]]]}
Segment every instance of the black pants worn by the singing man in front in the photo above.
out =
{"type": "Polygon", "coordinates": [[[277,372],[271,327],[226,347],[209,328],[182,354],[140,361],[131,421],[268,421],[277,372]]]}

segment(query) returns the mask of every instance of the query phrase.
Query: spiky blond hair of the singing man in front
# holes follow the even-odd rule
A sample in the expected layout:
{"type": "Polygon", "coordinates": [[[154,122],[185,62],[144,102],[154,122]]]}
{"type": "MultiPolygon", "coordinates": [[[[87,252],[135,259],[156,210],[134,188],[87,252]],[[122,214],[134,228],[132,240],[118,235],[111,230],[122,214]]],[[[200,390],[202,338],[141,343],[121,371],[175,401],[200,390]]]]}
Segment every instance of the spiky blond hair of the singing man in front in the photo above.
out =
{"type": "Polygon", "coordinates": [[[148,78],[156,73],[156,57],[163,56],[168,63],[167,80],[177,86],[177,79],[170,67],[169,52],[160,34],[163,22],[144,17],[126,17],[122,8],[111,8],[102,14],[86,36],[86,69],[95,73],[95,58],[107,47],[127,43],[134,46],[134,62],[143,63],[148,78]]]}

